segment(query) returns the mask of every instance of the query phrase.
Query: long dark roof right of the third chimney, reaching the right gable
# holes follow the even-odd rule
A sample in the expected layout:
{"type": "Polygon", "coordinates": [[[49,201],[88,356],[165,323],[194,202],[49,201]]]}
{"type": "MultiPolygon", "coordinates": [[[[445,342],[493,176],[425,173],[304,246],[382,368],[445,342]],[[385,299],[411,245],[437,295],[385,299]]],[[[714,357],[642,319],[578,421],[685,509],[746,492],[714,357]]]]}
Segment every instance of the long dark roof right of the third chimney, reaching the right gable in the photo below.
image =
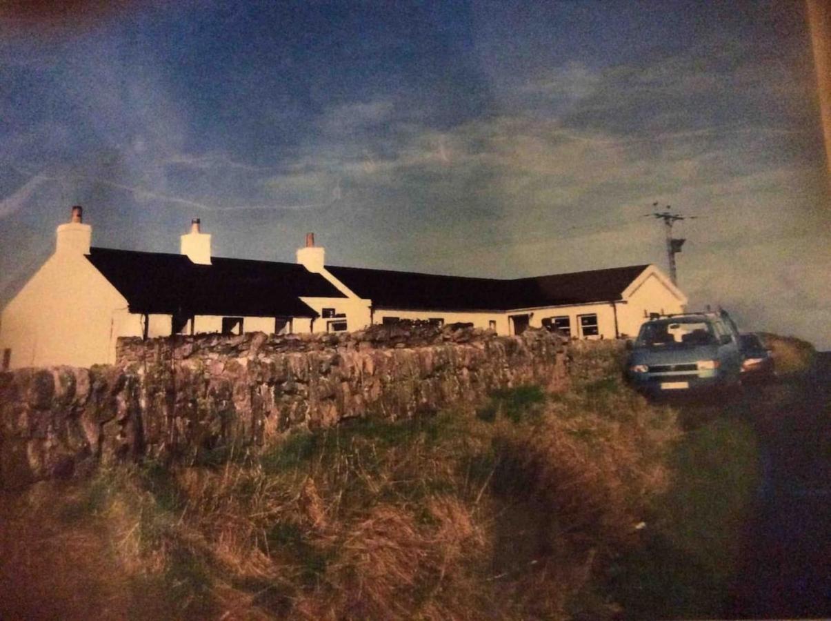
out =
{"type": "Polygon", "coordinates": [[[371,298],[375,308],[465,311],[619,300],[647,267],[632,265],[513,280],[337,266],[327,269],[361,298],[371,298]]]}

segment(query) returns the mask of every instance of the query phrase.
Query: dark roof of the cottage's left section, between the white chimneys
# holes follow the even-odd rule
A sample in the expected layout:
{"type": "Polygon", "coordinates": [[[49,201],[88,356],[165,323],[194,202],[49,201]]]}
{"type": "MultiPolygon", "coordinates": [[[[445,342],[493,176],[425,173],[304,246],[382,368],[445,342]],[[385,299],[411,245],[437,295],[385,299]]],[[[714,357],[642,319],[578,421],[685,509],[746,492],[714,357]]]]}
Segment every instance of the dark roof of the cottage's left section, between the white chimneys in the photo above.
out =
{"type": "Polygon", "coordinates": [[[133,313],[317,317],[299,296],[345,297],[297,264],[212,257],[211,265],[197,265],[183,254],[106,248],[86,258],[133,313]]]}

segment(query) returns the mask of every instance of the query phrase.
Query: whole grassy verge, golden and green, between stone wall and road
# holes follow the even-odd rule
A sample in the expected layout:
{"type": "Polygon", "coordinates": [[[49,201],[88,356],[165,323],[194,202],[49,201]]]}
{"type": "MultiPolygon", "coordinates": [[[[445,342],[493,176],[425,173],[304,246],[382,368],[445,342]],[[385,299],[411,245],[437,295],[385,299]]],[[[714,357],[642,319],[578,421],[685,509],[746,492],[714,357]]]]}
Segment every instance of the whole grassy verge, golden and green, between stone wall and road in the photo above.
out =
{"type": "Polygon", "coordinates": [[[581,354],[567,392],[7,497],[0,617],[717,615],[758,485],[752,430],[681,433],[622,383],[619,349],[581,354]]]}

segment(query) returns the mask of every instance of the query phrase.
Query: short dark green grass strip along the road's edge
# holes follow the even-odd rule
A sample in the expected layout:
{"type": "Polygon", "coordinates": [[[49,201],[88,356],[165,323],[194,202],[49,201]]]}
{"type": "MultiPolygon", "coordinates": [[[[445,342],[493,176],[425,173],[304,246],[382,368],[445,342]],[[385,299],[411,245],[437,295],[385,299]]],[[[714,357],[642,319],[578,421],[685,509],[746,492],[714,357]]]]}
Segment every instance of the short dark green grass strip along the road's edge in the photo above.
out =
{"type": "Polygon", "coordinates": [[[606,589],[627,619],[718,617],[739,564],[741,526],[760,485],[750,425],[718,418],[680,436],[672,483],[639,534],[610,565],[606,589]]]}

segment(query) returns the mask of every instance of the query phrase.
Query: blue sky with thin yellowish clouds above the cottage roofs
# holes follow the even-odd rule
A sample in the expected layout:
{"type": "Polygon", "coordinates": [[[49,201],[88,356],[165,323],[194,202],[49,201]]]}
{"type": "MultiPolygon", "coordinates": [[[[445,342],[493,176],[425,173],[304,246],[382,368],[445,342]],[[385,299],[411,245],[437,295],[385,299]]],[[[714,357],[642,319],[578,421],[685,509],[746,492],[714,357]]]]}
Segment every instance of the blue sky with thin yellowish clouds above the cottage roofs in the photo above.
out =
{"type": "Polygon", "coordinates": [[[93,245],[517,278],[654,263],[691,308],[831,347],[798,2],[9,2],[0,303],[93,245]]]}

